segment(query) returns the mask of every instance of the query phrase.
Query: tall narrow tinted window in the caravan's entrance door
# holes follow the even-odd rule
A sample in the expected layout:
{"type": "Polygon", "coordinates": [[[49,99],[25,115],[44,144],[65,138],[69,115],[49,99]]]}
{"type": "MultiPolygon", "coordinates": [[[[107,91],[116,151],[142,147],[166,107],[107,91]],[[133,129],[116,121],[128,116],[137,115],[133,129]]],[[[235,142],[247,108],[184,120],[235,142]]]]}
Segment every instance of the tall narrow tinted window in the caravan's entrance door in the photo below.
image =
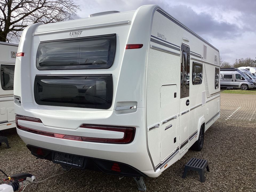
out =
{"type": "Polygon", "coordinates": [[[190,48],[181,45],[181,98],[189,97],[190,48]]]}

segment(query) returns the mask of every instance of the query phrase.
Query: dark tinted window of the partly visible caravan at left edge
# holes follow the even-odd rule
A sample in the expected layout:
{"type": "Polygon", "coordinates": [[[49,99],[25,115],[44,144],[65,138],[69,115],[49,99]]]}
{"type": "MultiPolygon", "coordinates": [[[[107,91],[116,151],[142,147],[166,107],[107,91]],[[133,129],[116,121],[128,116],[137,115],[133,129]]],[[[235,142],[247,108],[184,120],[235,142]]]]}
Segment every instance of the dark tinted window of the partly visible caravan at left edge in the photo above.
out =
{"type": "Polygon", "coordinates": [[[3,90],[13,90],[14,65],[1,65],[1,86],[3,90]]]}

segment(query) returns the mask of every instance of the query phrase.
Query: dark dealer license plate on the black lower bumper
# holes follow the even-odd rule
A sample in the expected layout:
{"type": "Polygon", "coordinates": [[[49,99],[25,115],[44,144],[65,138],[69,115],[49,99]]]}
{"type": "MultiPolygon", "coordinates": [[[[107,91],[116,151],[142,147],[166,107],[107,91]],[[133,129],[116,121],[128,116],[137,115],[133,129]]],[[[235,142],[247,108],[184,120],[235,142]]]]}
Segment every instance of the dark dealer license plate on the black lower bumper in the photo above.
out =
{"type": "Polygon", "coordinates": [[[53,162],[67,166],[83,167],[84,158],[76,155],[54,152],[53,162]]]}

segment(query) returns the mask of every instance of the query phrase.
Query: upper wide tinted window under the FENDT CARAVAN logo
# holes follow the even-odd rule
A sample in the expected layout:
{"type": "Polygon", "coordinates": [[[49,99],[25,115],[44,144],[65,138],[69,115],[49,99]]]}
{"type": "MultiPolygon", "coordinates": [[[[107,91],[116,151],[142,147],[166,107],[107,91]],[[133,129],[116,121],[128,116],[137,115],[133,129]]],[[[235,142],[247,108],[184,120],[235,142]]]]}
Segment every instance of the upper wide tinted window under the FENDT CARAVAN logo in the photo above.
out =
{"type": "Polygon", "coordinates": [[[39,70],[106,69],[114,61],[116,35],[40,42],[36,66],[39,70]]]}

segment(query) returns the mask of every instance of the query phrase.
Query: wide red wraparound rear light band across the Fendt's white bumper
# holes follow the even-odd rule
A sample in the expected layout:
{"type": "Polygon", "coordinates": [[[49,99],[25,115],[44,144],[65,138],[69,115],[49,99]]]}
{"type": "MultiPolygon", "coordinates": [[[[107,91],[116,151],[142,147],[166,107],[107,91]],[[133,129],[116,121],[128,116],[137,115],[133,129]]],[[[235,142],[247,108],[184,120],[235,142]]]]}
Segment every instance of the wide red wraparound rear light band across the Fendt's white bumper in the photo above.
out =
{"type": "Polygon", "coordinates": [[[100,126],[100,125],[86,125],[86,124],[83,124],[83,125],[80,126],[81,128],[98,129],[98,130],[106,130],[106,131],[117,131],[117,132],[124,133],[124,136],[121,139],[80,137],[80,136],[74,136],[74,135],[65,135],[65,134],[59,134],[59,133],[50,133],[50,132],[46,132],[46,131],[39,131],[39,130],[35,130],[35,129],[30,129],[28,127],[24,127],[24,126],[21,126],[21,125],[18,124],[18,120],[42,123],[42,121],[40,119],[31,118],[31,117],[24,117],[24,116],[20,116],[20,115],[16,115],[15,119],[16,119],[16,127],[18,129],[23,130],[23,131],[27,131],[27,132],[30,132],[30,133],[35,133],[35,134],[38,134],[38,135],[44,135],[44,136],[48,136],[48,137],[69,139],[69,140],[75,140],[75,141],[127,144],[127,143],[130,143],[130,142],[133,141],[134,135],[135,135],[135,127],[100,126]]]}

